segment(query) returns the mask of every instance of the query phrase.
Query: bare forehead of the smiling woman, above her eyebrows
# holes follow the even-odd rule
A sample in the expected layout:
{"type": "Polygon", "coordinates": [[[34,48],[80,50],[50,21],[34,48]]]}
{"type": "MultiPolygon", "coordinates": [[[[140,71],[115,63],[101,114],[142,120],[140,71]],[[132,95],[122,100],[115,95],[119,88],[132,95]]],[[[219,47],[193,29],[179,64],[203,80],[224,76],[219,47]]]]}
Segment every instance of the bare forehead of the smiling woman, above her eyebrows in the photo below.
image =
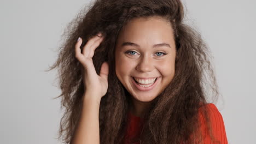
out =
{"type": "Polygon", "coordinates": [[[118,43],[149,44],[167,43],[172,41],[171,23],[160,17],[139,17],[132,19],[119,33],[118,43]]]}

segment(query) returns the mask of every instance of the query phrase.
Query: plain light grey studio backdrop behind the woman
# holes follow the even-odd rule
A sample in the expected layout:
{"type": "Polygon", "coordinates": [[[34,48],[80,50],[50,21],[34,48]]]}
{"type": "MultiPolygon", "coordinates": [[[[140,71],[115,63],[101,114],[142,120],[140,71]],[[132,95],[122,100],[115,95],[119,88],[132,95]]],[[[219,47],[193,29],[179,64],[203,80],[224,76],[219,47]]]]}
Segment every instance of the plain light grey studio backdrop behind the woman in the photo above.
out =
{"type": "MultiPolygon", "coordinates": [[[[229,143],[256,143],[256,1],[183,1],[214,56],[229,143]]],[[[60,143],[56,70],[61,34],[89,1],[1,0],[1,143],[60,143]]]]}

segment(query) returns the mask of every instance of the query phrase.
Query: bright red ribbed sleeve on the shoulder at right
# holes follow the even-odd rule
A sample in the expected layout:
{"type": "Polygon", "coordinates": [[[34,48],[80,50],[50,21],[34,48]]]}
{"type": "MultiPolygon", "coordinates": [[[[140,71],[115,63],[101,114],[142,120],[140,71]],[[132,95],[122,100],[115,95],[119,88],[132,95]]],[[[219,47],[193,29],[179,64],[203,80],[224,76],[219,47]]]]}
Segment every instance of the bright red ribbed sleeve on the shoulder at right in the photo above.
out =
{"type": "Polygon", "coordinates": [[[228,140],[226,139],[226,131],[225,131],[225,125],[223,122],[223,117],[220,114],[220,112],[218,111],[217,107],[212,103],[206,104],[205,107],[206,107],[206,110],[210,117],[211,127],[212,127],[212,135],[216,141],[211,139],[210,133],[206,127],[205,118],[203,117],[203,113],[200,108],[199,109],[199,122],[201,123],[202,140],[203,140],[202,143],[209,143],[209,144],[215,144],[215,143],[226,144],[226,143],[228,143],[228,140]]]}

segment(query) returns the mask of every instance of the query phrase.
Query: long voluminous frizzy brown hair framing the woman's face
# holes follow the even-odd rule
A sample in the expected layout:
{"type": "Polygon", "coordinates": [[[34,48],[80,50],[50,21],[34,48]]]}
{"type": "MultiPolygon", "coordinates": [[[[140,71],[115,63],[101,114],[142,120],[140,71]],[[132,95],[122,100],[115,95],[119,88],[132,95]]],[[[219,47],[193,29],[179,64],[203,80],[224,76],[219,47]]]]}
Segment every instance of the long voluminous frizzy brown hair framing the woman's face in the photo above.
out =
{"type": "MultiPolygon", "coordinates": [[[[61,97],[61,108],[65,107],[59,130],[63,142],[71,141],[83,104],[82,64],[74,51],[78,37],[83,39],[81,47],[98,32],[105,37],[92,58],[97,74],[103,62],[109,64],[108,91],[100,103],[100,143],[121,143],[131,99],[115,75],[115,45],[125,23],[135,17],[152,16],[161,16],[172,24],[176,71],[171,83],[147,110],[139,140],[141,143],[199,142],[199,107],[209,102],[210,95],[215,99],[219,93],[210,50],[201,35],[183,22],[184,9],[179,0],[97,0],[69,23],[59,57],[49,69],[57,68],[59,74],[61,94],[56,98],[61,97]]],[[[207,110],[202,111],[211,131],[207,110]]]]}

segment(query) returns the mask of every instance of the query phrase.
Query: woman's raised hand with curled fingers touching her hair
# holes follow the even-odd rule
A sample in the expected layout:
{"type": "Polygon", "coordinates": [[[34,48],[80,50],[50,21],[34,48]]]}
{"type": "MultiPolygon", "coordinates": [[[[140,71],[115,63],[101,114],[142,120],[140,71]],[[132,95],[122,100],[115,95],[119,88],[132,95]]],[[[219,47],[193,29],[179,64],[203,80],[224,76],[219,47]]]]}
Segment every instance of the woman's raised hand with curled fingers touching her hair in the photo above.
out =
{"type": "Polygon", "coordinates": [[[95,49],[101,44],[103,36],[101,33],[95,35],[88,40],[83,47],[81,53],[80,46],[82,39],[78,38],[77,44],[75,44],[75,58],[83,65],[83,82],[86,97],[96,98],[100,100],[108,89],[108,63],[104,62],[101,65],[100,75],[97,75],[94,64],[92,63],[92,57],[94,56],[95,49]]]}

